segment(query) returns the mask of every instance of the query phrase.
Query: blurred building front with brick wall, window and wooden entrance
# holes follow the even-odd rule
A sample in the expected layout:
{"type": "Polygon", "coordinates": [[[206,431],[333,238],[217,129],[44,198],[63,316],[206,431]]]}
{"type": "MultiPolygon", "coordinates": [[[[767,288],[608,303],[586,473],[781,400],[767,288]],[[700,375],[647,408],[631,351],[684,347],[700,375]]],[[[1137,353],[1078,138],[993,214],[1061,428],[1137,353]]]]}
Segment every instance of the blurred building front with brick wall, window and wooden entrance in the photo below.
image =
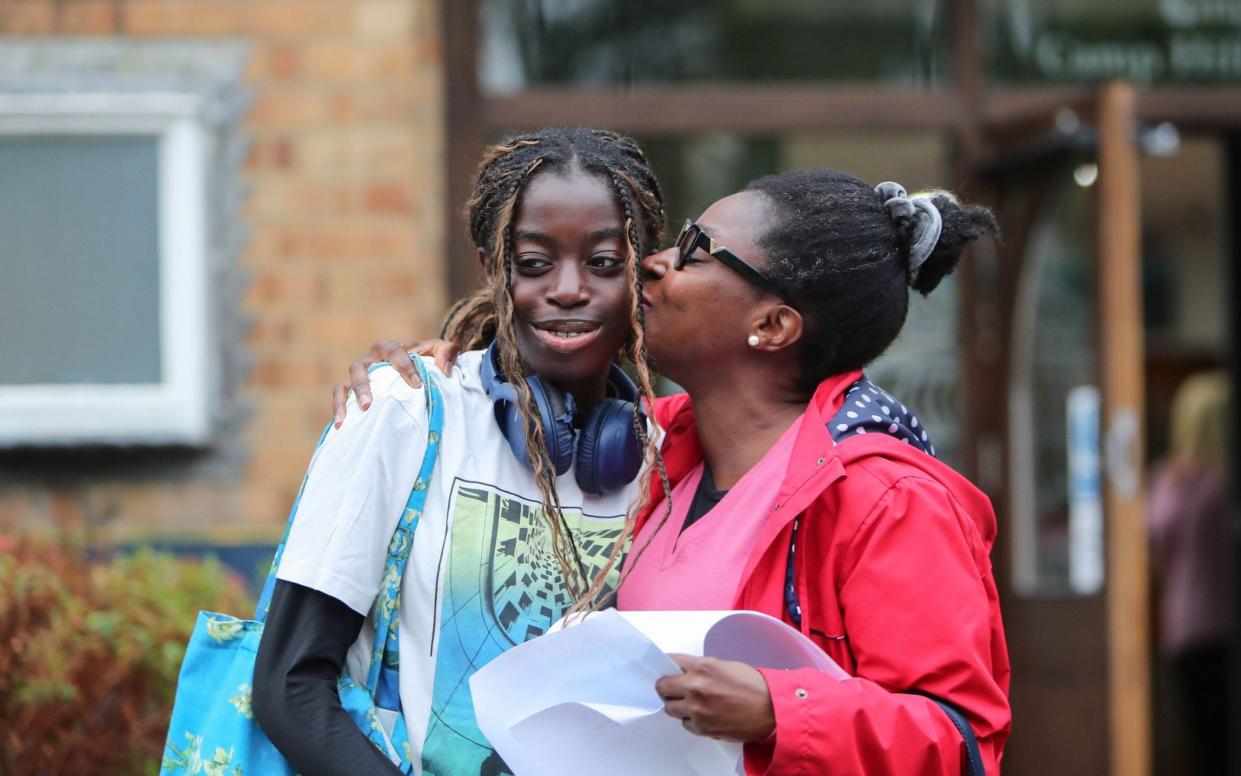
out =
{"type": "Polygon", "coordinates": [[[477,283],[480,149],[547,124],[637,137],[671,222],[812,165],[995,207],[872,376],[995,503],[1005,772],[1188,774],[1143,488],[1176,386],[1236,394],[1230,0],[0,0],[0,517],[272,541],[349,361],[477,283]]]}

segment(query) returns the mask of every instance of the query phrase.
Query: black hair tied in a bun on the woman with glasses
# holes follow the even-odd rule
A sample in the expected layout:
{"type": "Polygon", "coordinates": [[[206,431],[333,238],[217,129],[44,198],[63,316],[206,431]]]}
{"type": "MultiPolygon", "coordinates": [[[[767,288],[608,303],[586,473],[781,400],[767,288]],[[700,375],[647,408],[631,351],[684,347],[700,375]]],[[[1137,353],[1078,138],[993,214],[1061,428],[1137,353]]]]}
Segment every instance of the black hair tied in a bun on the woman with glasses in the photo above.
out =
{"type": "Polygon", "coordinates": [[[894,219],[866,183],[838,170],[797,170],[751,181],[766,195],[771,226],[758,240],[767,274],[791,294],[805,319],[799,354],[807,392],[828,375],[874,361],[905,325],[908,288],[930,294],[957,267],[962,251],[998,236],[985,207],[943,191],[931,202],[943,231],[916,279],[910,279],[913,219],[894,219]]]}

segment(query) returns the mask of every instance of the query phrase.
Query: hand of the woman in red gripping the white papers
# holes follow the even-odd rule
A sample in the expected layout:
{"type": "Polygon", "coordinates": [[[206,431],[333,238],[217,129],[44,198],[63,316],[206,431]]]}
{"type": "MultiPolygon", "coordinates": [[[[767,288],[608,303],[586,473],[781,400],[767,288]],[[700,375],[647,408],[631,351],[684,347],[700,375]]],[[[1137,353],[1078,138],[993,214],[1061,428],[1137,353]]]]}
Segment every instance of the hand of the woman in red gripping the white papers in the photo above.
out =
{"type": "Polygon", "coordinates": [[[683,673],[664,677],[655,692],[664,713],[686,730],[725,741],[762,741],[776,730],[767,680],[738,661],[670,654],[683,673]]]}

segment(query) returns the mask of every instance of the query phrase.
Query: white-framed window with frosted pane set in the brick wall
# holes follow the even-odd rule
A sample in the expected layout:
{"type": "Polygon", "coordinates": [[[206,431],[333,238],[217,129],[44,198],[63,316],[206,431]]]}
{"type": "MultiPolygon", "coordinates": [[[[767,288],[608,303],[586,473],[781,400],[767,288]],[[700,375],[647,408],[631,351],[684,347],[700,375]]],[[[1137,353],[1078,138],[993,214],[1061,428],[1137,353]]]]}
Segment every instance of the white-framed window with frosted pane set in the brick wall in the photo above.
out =
{"type": "Polygon", "coordinates": [[[191,93],[0,93],[0,447],[210,435],[191,93]]]}

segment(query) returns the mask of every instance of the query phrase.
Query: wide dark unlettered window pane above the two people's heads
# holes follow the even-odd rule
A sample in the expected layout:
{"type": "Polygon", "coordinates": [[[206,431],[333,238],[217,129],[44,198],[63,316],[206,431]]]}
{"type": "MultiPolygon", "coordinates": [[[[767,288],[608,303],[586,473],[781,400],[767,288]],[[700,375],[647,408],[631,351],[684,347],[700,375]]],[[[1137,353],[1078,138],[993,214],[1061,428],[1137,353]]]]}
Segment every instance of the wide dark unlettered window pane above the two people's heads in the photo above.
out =
{"type": "Polygon", "coordinates": [[[480,0],[484,92],[692,81],[937,84],[947,0],[480,0]]]}

